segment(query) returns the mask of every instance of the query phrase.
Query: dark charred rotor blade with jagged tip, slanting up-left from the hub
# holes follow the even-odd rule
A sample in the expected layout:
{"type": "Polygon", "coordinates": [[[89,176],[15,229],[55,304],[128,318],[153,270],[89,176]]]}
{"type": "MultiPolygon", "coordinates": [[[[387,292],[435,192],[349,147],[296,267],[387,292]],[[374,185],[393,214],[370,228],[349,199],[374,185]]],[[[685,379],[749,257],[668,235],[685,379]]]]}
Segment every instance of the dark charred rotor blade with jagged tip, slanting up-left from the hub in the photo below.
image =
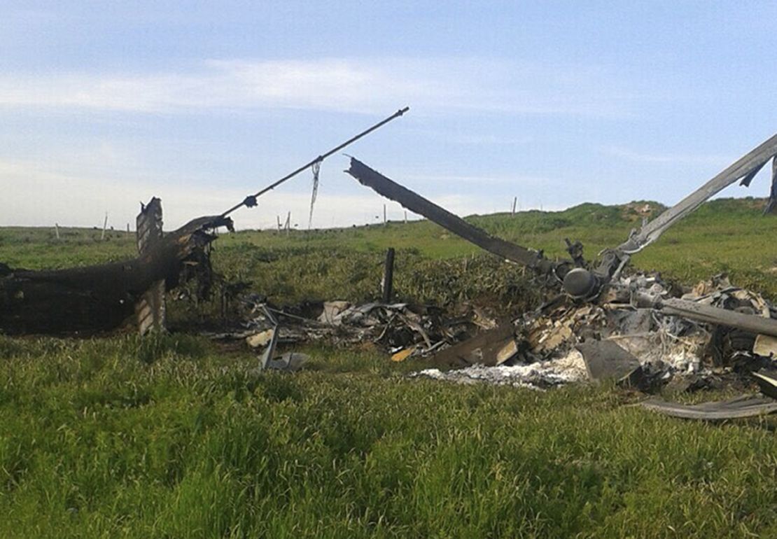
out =
{"type": "Polygon", "coordinates": [[[486,231],[472,226],[467,221],[450,211],[445,210],[437,204],[423,198],[413,191],[399,185],[399,183],[382,176],[357,159],[350,159],[350,169],[346,172],[359,181],[364,186],[371,187],[378,194],[385,196],[390,200],[395,200],[416,214],[427,217],[443,228],[447,228],[455,235],[461,236],[468,242],[472,242],[478,247],[488,252],[493,252],[504,259],[512,260],[524,266],[537,269],[541,273],[549,273],[554,268],[554,264],[545,259],[541,253],[506,242],[501,238],[495,238],[486,231]]]}

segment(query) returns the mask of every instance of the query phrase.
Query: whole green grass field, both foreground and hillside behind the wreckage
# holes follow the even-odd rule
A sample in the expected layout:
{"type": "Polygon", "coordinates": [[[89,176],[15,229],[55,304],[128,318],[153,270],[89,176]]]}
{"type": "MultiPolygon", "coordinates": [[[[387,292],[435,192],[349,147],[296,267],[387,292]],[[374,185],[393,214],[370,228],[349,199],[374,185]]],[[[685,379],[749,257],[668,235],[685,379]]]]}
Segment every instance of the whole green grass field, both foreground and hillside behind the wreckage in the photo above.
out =
{"type": "MultiPolygon", "coordinates": [[[[472,221],[550,256],[635,226],[596,205],[472,221]]],[[[125,233],[62,232],[0,228],[0,261],[133,255],[125,233]]],[[[635,263],[775,298],[775,232],[756,201],[718,200],[635,263]]],[[[214,265],[278,303],[360,301],[388,246],[404,299],[538,299],[521,269],[427,222],[225,235],[214,265]]],[[[0,336],[0,537],[777,537],[774,419],[691,423],[611,387],[450,385],[375,349],[302,351],[310,369],[278,374],[183,332],[0,336]]]]}

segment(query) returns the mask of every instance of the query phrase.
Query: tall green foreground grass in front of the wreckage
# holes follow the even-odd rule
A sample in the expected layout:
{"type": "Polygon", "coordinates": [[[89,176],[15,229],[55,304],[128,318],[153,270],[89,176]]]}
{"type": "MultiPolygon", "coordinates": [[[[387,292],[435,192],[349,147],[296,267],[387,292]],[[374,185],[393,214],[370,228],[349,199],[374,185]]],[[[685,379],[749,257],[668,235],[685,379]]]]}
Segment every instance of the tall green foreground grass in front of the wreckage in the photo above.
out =
{"type": "Polygon", "coordinates": [[[408,380],[335,349],[295,375],[189,336],[0,350],[2,537],[777,534],[766,420],[408,380]]]}

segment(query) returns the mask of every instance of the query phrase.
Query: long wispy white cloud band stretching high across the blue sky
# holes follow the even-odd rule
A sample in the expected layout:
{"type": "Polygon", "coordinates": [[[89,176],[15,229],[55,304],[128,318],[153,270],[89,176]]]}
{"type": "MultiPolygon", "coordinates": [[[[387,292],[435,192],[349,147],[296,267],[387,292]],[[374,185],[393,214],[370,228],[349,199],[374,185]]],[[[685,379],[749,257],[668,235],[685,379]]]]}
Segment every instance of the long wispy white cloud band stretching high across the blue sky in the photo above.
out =
{"type": "Polygon", "coordinates": [[[632,97],[600,68],[478,58],[211,60],[188,71],[0,76],[0,107],[39,111],[375,113],[410,105],[423,113],[623,116],[632,97]]]}

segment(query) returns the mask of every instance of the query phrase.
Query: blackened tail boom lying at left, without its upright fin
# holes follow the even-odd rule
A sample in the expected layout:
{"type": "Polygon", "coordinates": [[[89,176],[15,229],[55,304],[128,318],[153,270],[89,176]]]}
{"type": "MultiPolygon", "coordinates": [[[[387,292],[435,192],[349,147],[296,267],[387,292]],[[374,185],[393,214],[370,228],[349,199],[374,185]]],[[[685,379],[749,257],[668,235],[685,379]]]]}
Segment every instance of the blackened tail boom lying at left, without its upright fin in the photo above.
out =
{"type": "Polygon", "coordinates": [[[0,266],[0,331],[94,333],[117,329],[135,314],[135,305],[159,283],[166,290],[201,276],[207,291],[211,273],[209,231],[228,217],[199,217],[163,236],[135,259],[68,269],[33,271],[0,266]]]}

